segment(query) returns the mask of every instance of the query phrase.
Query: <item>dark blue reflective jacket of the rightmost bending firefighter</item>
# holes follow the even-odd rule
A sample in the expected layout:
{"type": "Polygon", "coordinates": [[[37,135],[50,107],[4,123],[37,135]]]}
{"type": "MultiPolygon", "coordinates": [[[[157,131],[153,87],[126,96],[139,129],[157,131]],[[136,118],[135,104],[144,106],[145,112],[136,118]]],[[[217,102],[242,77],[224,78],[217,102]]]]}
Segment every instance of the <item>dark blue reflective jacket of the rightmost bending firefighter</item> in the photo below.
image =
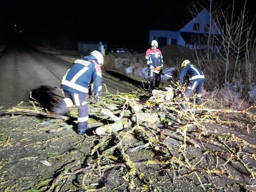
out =
{"type": "Polygon", "coordinates": [[[204,80],[204,73],[200,68],[194,66],[193,64],[187,64],[180,72],[180,80],[179,83],[181,84],[184,77],[188,75],[189,81],[197,80],[204,80]]]}

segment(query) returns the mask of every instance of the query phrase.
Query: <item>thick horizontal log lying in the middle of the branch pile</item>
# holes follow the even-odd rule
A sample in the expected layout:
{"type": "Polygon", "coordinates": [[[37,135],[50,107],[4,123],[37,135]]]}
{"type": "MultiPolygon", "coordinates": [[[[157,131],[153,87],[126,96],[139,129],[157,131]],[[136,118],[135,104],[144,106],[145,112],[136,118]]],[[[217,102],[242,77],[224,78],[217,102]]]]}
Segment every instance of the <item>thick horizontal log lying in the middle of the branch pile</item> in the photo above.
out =
{"type": "Polygon", "coordinates": [[[136,117],[132,114],[132,122],[136,122],[136,118],[139,123],[148,122],[148,123],[156,123],[165,120],[165,113],[158,112],[158,113],[137,113],[136,117]]]}

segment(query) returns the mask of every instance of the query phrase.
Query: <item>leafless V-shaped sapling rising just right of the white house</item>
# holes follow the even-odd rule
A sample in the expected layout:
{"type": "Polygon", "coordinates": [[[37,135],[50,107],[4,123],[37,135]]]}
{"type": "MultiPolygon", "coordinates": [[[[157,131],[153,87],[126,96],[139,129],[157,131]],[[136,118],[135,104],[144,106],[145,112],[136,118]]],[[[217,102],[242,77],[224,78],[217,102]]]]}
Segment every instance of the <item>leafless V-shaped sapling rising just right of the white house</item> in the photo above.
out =
{"type": "MultiPolygon", "coordinates": [[[[245,0],[246,5],[246,0],[245,0]]],[[[219,55],[221,56],[221,62],[225,65],[225,76],[224,83],[227,84],[233,80],[237,82],[237,64],[243,58],[243,49],[245,49],[247,38],[246,34],[249,30],[247,26],[247,13],[245,12],[245,5],[240,15],[236,16],[234,13],[234,0],[232,4],[232,12],[228,15],[228,12],[221,10],[221,17],[216,17],[217,23],[221,23],[220,20],[224,21],[223,25],[220,26],[221,33],[221,49],[218,49],[219,55]],[[230,64],[232,67],[230,67],[230,64]],[[228,79],[230,69],[233,71],[233,79],[228,79]]],[[[232,77],[232,75],[230,76],[232,77]]]]}

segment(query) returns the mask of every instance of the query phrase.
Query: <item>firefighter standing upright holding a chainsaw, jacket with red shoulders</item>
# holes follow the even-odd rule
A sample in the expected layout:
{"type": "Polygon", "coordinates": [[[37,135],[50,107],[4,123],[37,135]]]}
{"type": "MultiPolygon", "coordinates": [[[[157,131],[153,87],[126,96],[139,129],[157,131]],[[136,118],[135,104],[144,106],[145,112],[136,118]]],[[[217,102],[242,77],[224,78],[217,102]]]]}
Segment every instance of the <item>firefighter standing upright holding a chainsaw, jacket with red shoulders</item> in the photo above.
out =
{"type": "Polygon", "coordinates": [[[161,72],[163,70],[163,55],[159,49],[157,49],[158,43],[156,40],[151,42],[151,47],[146,51],[145,60],[148,64],[148,89],[152,90],[153,82],[155,79],[155,87],[158,88],[161,81],[161,72]],[[158,73],[154,73],[158,72],[158,73]]]}

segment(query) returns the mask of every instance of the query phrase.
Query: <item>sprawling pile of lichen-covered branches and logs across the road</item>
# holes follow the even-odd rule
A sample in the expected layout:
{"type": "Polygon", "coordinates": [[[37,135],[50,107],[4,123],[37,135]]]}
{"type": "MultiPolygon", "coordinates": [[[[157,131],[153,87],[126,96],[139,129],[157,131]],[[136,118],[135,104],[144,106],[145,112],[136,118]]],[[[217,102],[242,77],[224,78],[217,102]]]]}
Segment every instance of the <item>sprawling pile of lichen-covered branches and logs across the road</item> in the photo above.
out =
{"type": "MultiPolygon", "coordinates": [[[[172,173],[169,177],[172,183],[175,184],[178,178],[195,175],[198,186],[207,190],[208,186],[202,182],[202,175],[220,174],[232,178],[232,173],[226,167],[230,162],[240,164],[252,178],[252,183],[255,183],[256,172],[252,165],[256,162],[256,145],[247,143],[234,134],[211,132],[206,127],[207,123],[230,126],[232,122],[219,118],[219,114],[223,113],[241,113],[255,123],[256,115],[249,112],[255,106],[232,111],[205,107],[206,103],[196,105],[195,102],[187,102],[182,98],[159,100],[150,96],[150,93],[143,90],[117,94],[106,92],[97,104],[89,100],[89,124],[102,122],[98,126],[91,126],[93,133],[98,136],[98,142],[94,142],[91,151],[80,160],[63,165],[55,178],[41,182],[43,185],[38,185],[37,189],[49,192],[64,189],[102,190],[104,184],[89,182],[88,178],[95,174],[101,178],[108,169],[122,167],[119,170],[123,171],[124,184],[119,189],[156,191],[154,183],[157,179],[146,177],[138,167],[159,165],[172,173]],[[131,136],[133,139],[130,139],[131,136]],[[167,142],[169,138],[178,141],[179,145],[171,146],[167,142]],[[204,152],[215,158],[214,168],[207,166],[204,157],[195,159],[187,153],[188,147],[203,148],[204,143],[221,146],[222,150],[204,152]],[[152,151],[154,158],[132,161],[130,155],[139,150],[145,153],[152,151]],[[219,164],[220,159],[224,163],[219,164]]],[[[32,106],[13,107],[7,113],[19,111],[22,114],[36,113],[47,117],[48,112],[42,111],[38,103],[31,103],[32,106]]],[[[76,107],[70,108],[68,114],[77,117],[76,107]]],[[[254,123],[246,124],[245,128],[253,131],[254,123]]]]}

